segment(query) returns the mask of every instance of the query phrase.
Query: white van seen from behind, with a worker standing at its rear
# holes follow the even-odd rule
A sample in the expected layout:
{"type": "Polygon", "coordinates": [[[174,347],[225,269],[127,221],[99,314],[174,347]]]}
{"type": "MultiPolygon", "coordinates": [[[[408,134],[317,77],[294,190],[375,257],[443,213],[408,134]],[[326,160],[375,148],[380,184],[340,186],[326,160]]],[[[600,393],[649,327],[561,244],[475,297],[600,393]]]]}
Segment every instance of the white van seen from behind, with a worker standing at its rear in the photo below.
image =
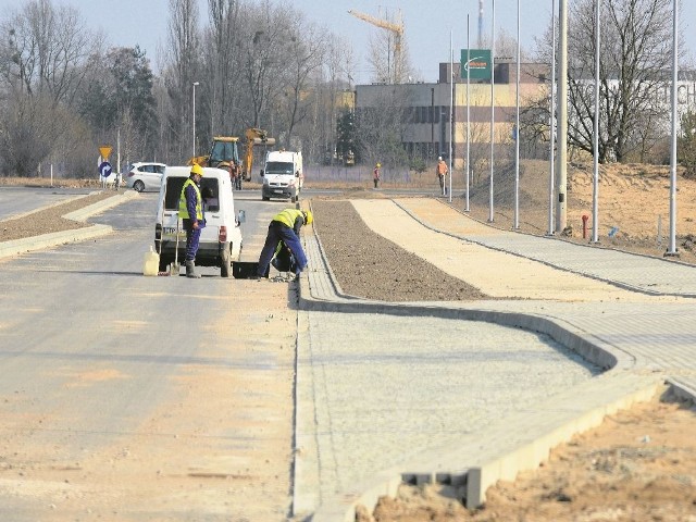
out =
{"type": "MultiPolygon", "coordinates": [[[[186,256],[186,232],[178,219],[178,201],[182,187],[190,175],[190,166],[167,166],[162,177],[154,224],[154,249],[160,253],[160,272],[174,262],[178,231],[178,264],[186,256]]],[[[197,266],[220,266],[220,275],[229,277],[232,263],[241,254],[241,228],[244,211],[235,214],[229,172],[222,169],[203,169],[200,181],[206,226],[200,235],[196,254],[197,266]]]]}

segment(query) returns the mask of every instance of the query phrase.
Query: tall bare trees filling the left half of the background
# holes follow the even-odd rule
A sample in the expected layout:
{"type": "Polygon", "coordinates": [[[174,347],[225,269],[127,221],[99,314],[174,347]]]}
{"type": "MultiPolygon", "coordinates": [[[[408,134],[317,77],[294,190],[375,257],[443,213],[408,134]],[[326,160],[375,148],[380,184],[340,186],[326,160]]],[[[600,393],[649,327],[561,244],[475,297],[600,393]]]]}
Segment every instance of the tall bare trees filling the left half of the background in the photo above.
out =
{"type": "Polygon", "coordinates": [[[122,163],[183,164],[214,135],[248,127],[284,147],[301,144],[310,158],[333,147],[334,100],[353,66],[348,46],[291,5],[207,8],[203,24],[196,0],[169,1],[157,75],[145,51],[109,47],[73,7],[28,0],[13,9],[0,20],[0,173],[33,176],[51,163],[92,176],[97,146],[115,150],[116,140],[122,163]]]}

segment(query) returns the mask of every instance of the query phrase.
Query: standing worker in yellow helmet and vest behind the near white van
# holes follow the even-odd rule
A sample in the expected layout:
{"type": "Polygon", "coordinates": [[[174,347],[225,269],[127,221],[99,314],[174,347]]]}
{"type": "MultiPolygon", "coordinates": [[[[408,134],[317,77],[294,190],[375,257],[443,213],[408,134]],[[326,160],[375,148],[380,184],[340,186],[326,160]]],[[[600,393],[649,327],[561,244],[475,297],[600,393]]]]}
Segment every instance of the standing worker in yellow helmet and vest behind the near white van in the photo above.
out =
{"type": "Polygon", "coordinates": [[[200,233],[206,226],[203,200],[200,196],[200,178],[202,176],[203,169],[195,163],[178,198],[178,216],[184,220],[184,229],[186,231],[186,277],[200,277],[200,274],[195,270],[195,262],[200,233]]]}

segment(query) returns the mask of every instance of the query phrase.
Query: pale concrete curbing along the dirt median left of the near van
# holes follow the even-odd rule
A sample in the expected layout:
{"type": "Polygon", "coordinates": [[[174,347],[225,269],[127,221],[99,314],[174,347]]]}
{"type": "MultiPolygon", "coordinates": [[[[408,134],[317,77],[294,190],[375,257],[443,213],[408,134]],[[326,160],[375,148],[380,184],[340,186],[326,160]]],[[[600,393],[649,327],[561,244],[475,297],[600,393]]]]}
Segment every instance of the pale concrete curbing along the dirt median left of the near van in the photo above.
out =
{"type": "MultiPolygon", "coordinates": [[[[135,195],[137,196],[137,192],[135,192],[135,195]]],[[[88,217],[103,212],[104,210],[116,207],[124,201],[127,201],[132,197],[134,197],[134,195],[126,191],[122,195],[116,195],[111,198],[107,198],[96,203],[89,204],[74,212],[70,212],[63,217],[67,220],[84,222],[88,217]]],[[[33,212],[29,212],[28,214],[30,213],[33,212]]],[[[113,232],[113,228],[111,226],[97,224],[83,228],[73,228],[71,231],[54,232],[52,234],[44,234],[40,236],[27,237],[24,239],[15,239],[13,241],[3,241],[0,243],[0,259],[11,256],[17,256],[20,253],[42,250],[45,248],[55,247],[58,245],[66,245],[70,243],[94,239],[95,237],[101,237],[111,234],[111,232],[113,232]]]]}

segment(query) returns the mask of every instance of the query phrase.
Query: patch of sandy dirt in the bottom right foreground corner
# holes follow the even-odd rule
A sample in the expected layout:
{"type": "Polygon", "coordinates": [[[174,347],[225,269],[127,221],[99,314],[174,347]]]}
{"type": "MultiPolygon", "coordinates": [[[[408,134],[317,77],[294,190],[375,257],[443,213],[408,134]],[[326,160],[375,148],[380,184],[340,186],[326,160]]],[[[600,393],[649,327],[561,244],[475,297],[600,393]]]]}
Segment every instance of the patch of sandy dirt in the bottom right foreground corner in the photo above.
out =
{"type": "Polygon", "coordinates": [[[500,481],[468,511],[442,486],[402,486],[360,522],[696,521],[696,411],[655,400],[607,417],[551,451],[537,470],[500,481]]]}

